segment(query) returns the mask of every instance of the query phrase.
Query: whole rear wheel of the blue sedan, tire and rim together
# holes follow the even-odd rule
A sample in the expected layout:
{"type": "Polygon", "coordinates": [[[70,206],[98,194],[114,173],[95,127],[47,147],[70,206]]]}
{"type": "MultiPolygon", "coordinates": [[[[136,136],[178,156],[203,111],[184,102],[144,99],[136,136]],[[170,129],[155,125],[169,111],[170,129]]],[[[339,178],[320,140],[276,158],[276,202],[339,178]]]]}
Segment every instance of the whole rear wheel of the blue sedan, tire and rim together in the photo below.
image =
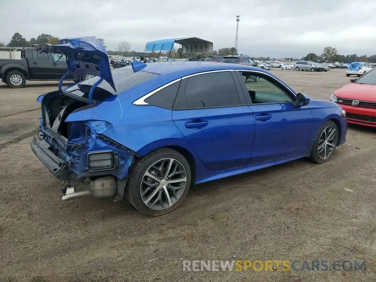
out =
{"type": "Polygon", "coordinates": [[[183,201],[190,184],[188,161],[179,152],[162,148],[135,165],[126,187],[127,199],[144,214],[167,214],[183,201]]]}

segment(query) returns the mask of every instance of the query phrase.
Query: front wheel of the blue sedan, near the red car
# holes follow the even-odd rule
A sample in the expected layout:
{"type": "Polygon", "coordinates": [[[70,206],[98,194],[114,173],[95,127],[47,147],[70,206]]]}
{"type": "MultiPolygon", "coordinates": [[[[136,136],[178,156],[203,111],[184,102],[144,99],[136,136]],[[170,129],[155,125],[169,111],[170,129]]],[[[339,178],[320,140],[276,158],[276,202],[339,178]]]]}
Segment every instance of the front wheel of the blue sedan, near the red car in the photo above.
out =
{"type": "Polygon", "coordinates": [[[333,121],[327,121],[320,127],[314,139],[309,160],[322,164],[331,157],[338,142],[338,128],[333,121]]]}

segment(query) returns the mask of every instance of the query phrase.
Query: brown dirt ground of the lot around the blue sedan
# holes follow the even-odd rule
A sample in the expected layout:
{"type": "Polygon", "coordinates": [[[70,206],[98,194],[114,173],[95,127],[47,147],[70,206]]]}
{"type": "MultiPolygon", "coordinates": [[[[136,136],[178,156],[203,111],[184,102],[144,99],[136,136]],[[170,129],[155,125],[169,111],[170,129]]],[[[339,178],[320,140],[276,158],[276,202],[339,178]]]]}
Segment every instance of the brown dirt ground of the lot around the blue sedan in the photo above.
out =
{"type": "MultiPolygon", "coordinates": [[[[344,70],[271,72],[316,99],[349,83],[344,70]]],[[[194,186],[154,218],[126,201],[60,199],[61,183],[30,150],[35,99],[56,88],[0,84],[0,281],[376,280],[376,130],[349,126],[325,164],[302,159],[194,186]],[[367,270],[187,272],[182,259],[349,259],[367,270]]]]}

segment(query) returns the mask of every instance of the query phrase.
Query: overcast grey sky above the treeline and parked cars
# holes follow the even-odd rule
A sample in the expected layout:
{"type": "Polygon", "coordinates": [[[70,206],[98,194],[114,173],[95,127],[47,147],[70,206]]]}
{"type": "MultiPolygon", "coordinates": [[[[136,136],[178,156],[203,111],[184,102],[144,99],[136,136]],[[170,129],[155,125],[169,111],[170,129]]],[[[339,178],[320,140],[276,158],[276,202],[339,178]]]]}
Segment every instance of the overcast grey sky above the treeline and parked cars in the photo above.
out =
{"type": "Polygon", "coordinates": [[[195,36],[218,50],[234,46],[236,15],[239,53],[300,58],[331,46],[344,55],[376,54],[376,0],[0,0],[0,41],[8,44],[15,32],[26,40],[94,35],[108,50],[128,41],[143,51],[147,41],[195,36]]]}

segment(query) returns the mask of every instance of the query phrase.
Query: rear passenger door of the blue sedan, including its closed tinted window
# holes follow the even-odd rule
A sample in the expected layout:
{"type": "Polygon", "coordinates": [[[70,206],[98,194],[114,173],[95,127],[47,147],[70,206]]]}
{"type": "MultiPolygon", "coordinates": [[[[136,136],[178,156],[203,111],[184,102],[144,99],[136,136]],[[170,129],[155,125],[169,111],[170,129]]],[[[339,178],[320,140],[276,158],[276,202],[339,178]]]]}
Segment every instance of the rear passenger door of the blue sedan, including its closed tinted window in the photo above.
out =
{"type": "Polygon", "coordinates": [[[183,78],[172,119],[209,170],[250,162],[255,121],[234,71],[183,78]]]}

